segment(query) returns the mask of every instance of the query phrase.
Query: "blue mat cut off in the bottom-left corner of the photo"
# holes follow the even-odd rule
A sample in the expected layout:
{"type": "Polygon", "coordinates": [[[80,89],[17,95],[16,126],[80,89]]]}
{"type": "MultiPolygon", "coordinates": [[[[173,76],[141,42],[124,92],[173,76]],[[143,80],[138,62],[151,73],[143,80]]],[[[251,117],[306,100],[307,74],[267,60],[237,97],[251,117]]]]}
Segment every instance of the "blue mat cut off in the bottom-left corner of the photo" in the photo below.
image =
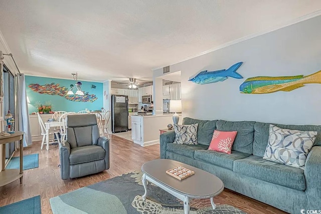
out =
{"type": "Polygon", "coordinates": [[[40,195],[0,207],[0,213],[41,214],[40,195]]]}

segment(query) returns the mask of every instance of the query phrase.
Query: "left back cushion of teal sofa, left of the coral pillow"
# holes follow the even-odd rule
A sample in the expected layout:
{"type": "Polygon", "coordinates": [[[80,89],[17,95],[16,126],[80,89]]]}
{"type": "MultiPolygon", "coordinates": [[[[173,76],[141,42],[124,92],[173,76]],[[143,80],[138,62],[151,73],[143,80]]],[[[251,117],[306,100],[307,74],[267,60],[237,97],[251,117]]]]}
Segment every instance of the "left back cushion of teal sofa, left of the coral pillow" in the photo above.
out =
{"type": "Polygon", "coordinates": [[[197,130],[197,143],[210,145],[217,121],[218,120],[197,120],[190,117],[184,117],[183,125],[199,124],[197,130]]]}

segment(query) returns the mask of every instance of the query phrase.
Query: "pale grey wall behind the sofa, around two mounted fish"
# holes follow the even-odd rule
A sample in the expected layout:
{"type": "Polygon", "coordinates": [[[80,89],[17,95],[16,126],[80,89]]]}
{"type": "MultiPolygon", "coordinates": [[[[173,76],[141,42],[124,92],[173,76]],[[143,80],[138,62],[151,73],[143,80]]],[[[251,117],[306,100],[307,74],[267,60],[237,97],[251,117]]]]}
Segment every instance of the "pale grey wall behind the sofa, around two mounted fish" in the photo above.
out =
{"type": "MultiPolygon", "coordinates": [[[[182,74],[183,117],[254,120],[284,124],[321,124],[321,84],[291,92],[241,94],[239,86],[255,76],[309,75],[321,70],[321,16],[172,65],[182,74]],[[244,79],[197,85],[189,77],[203,70],[237,70],[244,79]]],[[[212,47],[209,47],[209,49],[212,47]]],[[[162,76],[162,69],[154,76],[162,76]]]]}

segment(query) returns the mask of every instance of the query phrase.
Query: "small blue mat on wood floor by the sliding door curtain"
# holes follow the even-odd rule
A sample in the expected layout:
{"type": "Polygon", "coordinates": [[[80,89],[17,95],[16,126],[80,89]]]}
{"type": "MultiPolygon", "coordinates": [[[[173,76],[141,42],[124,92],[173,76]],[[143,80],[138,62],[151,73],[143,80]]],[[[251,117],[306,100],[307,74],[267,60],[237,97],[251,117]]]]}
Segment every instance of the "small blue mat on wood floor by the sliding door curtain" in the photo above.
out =
{"type": "MultiPolygon", "coordinates": [[[[32,169],[39,167],[39,154],[28,154],[24,155],[24,167],[23,169],[32,169]]],[[[6,169],[19,169],[20,167],[20,157],[11,158],[6,169]]]]}

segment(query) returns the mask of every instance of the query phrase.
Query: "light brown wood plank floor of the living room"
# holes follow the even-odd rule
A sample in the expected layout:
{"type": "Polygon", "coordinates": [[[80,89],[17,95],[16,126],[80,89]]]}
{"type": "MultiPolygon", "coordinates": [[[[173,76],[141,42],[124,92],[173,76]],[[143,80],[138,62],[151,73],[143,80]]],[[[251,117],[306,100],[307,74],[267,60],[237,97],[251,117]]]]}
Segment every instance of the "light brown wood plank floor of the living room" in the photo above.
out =
{"type": "MultiPolygon", "coordinates": [[[[111,165],[110,169],[82,178],[62,180],[60,178],[58,145],[51,145],[49,151],[40,150],[40,142],[24,148],[24,155],[39,153],[39,167],[24,170],[24,182],[19,180],[0,187],[0,206],[41,195],[42,213],[52,213],[49,198],[73,191],[99,181],[121,175],[125,172],[140,169],[141,165],[159,158],[159,145],[141,147],[131,141],[110,135],[111,165]]],[[[19,151],[16,151],[18,156],[19,151]]],[[[265,203],[251,199],[234,191],[225,189],[214,198],[219,204],[231,204],[248,213],[285,213],[265,203]]]]}

